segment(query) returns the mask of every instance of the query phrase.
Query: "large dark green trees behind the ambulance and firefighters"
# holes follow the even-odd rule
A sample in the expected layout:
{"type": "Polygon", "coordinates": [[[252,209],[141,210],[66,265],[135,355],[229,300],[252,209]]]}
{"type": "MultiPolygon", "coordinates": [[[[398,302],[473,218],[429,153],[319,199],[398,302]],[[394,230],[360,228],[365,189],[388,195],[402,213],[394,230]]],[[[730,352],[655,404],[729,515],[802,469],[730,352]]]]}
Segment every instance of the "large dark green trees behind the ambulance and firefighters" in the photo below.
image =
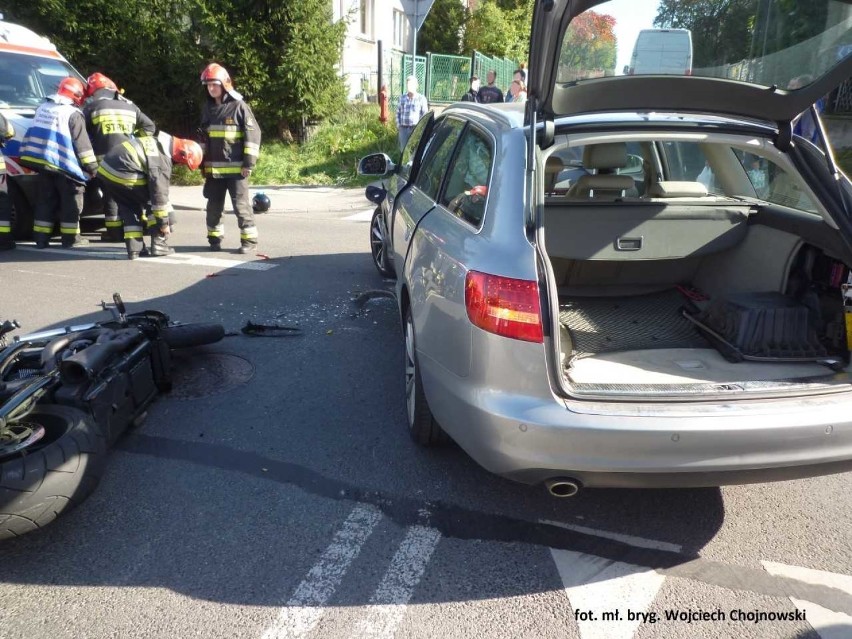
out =
{"type": "Polygon", "coordinates": [[[328,0],[7,0],[4,9],[177,135],[198,126],[199,74],[212,61],[268,132],[301,129],[345,104],[337,66],[346,24],[333,22],[328,0]]]}

